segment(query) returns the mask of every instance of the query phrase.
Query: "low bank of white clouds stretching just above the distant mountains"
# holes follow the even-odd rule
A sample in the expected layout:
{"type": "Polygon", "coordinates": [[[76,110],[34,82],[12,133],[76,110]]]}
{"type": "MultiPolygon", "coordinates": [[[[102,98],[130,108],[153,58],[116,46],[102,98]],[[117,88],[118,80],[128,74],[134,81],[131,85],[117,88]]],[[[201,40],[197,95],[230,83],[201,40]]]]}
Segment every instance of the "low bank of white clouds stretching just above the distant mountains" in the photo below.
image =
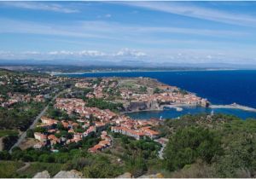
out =
{"type": "Polygon", "coordinates": [[[255,64],[256,53],[252,51],[236,50],[207,50],[207,49],[162,49],[143,52],[136,49],[120,49],[116,52],[102,52],[99,50],[59,50],[49,52],[25,51],[11,52],[0,51],[0,60],[67,60],[75,61],[145,61],[152,64],[164,63],[230,63],[230,64],[255,64]],[[29,52],[29,53],[27,53],[29,52]],[[36,52],[36,53],[33,53],[36,52]],[[244,54],[247,54],[245,56],[244,54]]]}

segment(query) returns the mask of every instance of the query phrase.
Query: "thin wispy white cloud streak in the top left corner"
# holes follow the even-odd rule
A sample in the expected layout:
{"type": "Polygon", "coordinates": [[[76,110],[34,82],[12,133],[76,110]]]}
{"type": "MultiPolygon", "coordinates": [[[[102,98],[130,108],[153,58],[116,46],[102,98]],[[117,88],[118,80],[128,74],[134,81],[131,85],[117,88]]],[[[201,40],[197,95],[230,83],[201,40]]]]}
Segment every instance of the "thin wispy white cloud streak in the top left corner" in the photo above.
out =
{"type": "Polygon", "coordinates": [[[58,13],[79,13],[78,9],[65,8],[59,3],[38,3],[38,2],[1,2],[0,4],[20,9],[46,10],[58,13]]]}

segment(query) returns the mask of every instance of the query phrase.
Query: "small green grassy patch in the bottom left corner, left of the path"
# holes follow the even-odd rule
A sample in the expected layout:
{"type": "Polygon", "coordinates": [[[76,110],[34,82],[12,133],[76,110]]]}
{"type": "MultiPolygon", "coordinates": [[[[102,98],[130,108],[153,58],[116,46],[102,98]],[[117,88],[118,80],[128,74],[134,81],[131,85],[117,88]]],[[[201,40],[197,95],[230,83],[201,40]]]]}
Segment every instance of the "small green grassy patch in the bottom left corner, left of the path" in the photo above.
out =
{"type": "Polygon", "coordinates": [[[23,165],[19,161],[0,161],[0,178],[16,177],[16,170],[23,165]]]}

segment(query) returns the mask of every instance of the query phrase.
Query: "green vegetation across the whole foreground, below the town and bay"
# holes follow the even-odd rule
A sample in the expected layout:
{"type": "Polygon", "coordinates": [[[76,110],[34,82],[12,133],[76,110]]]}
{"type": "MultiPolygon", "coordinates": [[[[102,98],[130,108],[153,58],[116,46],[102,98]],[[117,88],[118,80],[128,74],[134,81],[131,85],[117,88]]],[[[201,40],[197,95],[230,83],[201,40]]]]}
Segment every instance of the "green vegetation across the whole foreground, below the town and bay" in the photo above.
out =
{"type": "MultiPolygon", "coordinates": [[[[135,177],[158,172],[166,177],[255,177],[255,119],[200,114],[162,123],[161,136],[169,138],[164,159],[158,158],[159,143],[110,132],[113,147],[102,153],[87,152],[100,141],[96,134],[67,147],[56,145],[59,153],[50,153],[47,148],[15,148],[11,155],[0,152],[0,159],[9,160],[9,164],[31,163],[22,173],[15,172],[17,166],[0,163],[0,176],[31,177],[42,170],[53,176],[59,170],[75,169],[84,177],[115,177],[127,171],[135,177]]],[[[66,130],[61,130],[61,135],[68,137],[66,130]]]]}

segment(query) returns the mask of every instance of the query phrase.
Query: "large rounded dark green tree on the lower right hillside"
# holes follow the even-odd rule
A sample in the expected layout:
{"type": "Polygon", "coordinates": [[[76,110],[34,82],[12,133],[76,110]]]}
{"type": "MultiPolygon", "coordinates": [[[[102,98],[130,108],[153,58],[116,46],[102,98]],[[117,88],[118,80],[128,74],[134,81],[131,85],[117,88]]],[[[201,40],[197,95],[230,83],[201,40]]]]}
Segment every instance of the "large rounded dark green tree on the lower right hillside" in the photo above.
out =
{"type": "Polygon", "coordinates": [[[167,143],[164,157],[168,170],[177,170],[202,159],[211,163],[212,158],[220,154],[222,148],[219,138],[201,127],[187,127],[178,130],[167,143]]]}

